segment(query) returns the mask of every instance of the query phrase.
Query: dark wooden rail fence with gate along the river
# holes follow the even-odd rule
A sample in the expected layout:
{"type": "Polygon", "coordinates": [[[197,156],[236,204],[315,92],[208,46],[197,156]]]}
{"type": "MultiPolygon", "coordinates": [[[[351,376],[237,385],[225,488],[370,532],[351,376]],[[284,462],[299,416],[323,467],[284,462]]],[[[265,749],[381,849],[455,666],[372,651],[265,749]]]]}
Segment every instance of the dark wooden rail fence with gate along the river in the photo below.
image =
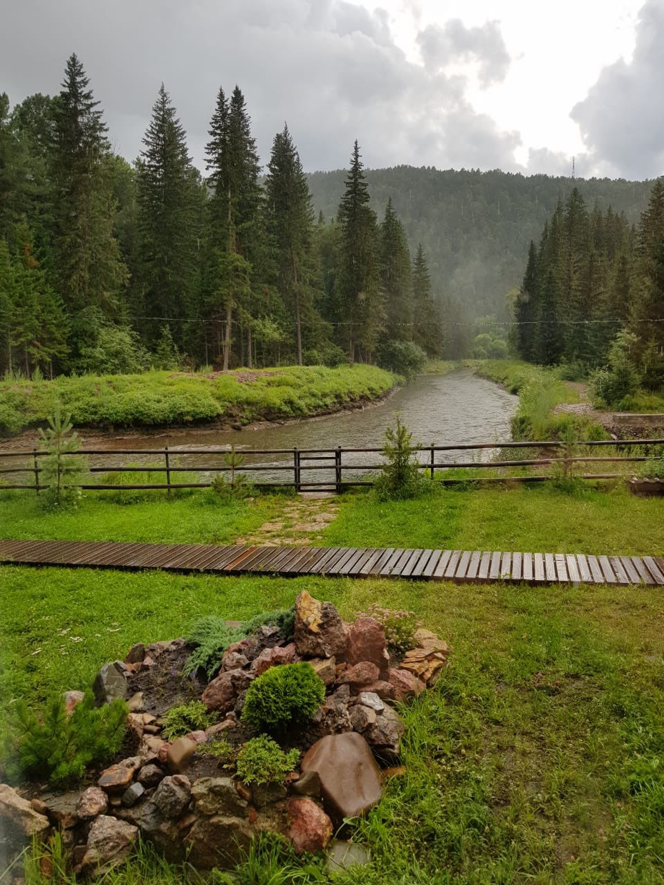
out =
{"type": "MultiPolygon", "coordinates": [[[[573,475],[575,465],[583,465],[584,469],[591,470],[592,465],[601,464],[618,464],[627,465],[629,463],[637,463],[648,460],[657,453],[655,447],[664,446],[664,439],[629,439],[629,440],[589,440],[575,443],[574,451],[565,449],[566,443],[559,440],[536,440],[518,443],[456,443],[444,445],[429,445],[413,447],[413,452],[418,458],[418,468],[428,473],[431,479],[437,479],[442,483],[452,484],[459,482],[543,482],[550,481],[552,473],[538,473],[538,468],[559,467],[559,475],[573,475]],[[632,450],[630,454],[601,454],[601,447],[611,446],[614,450],[632,450]],[[598,455],[581,454],[583,449],[597,449],[598,455]],[[467,453],[477,451],[482,455],[486,450],[496,450],[505,452],[507,450],[520,449],[539,449],[544,450],[544,455],[539,458],[518,458],[507,459],[505,455],[499,456],[493,460],[441,460],[439,453],[456,452],[467,453]],[[555,450],[562,449],[562,457],[556,457],[558,452],[555,450]],[[552,451],[553,450],[553,451],[552,451]],[[636,450],[636,451],[635,451],[636,450]],[[445,477],[447,471],[454,469],[477,470],[486,468],[505,468],[505,467],[532,467],[535,472],[529,475],[481,475],[476,477],[445,477]]],[[[213,479],[210,474],[231,474],[229,484],[235,485],[243,482],[246,475],[251,475],[251,485],[256,488],[279,488],[290,487],[297,491],[303,489],[320,490],[320,491],[336,491],[351,488],[354,486],[370,486],[373,485],[373,479],[367,478],[367,472],[380,471],[385,462],[379,458],[370,456],[382,454],[382,449],[367,448],[344,448],[337,446],[333,449],[242,449],[235,450],[235,455],[242,455],[245,459],[250,459],[249,463],[243,463],[240,466],[230,466],[224,462],[224,458],[228,458],[228,446],[210,446],[201,448],[175,448],[171,449],[165,446],[162,449],[80,449],[77,452],[63,452],[63,458],[93,456],[97,460],[103,462],[96,463],[91,466],[85,466],[84,473],[91,474],[90,479],[94,480],[94,474],[104,473],[151,473],[165,474],[165,482],[155,481],[151,477],[149,482],[136,482],[133,484],[116,484],[110,481],[94,482],[82,481],[77,483],[79,488],[86,490],[137,490],[137,489],[166,489],[170,494],[172,489],[205,489],[212,485],[213,479]],[[366,461],[356,461],[355,456],[366,455],[366,461]],[[162,459],[161,464],[146,463],[143,465],[136,464],[117,464],[118,458],[127,458],[131,456],[141,456],[142,458],[158,456],[162,459]],[[277,458],[267,463],[254,463],[256,458],[277,458]],[[345,456],[353,456],[351,461],[344,460],[345,456]],[[205,463],[188,463],[183,464],[181,458],[203,458],[205,463]],[[219,458],[218,463],[212,463],[214,457],[219,458]],[[210,462],[210,463],[208,463],[210,462]],[[185,473],[185,481],[177,481],[178,474],[185,473]],[[264,481],[260,481],[260,474],[267,473],[264,481]],[[196,474],[194,480],[190,479],[192,474],[196,474]],[[204,474],[202,477],[200,474],[204,474]],[[205,476],[205,474],[207,474],[205,476]],[[256,475],[257,481],[253,476],[256,475]],[[281,477],[283,476],[283,479],[281,477]],[[175,481],[172,481],[172,477],[175,481]],[[241,478],[242,477],[242,478],[241,478]]],[[[0,451],[0,465],[8,464],[9,466],[0,466],[0,489],[32,489],[37,493],[47,488],[44,482],[40,482],[40,474],[43,473],[41,459],[48,457],[48,452],[42,450],[21,450],[21,451],[0,451]],[[12,466],[11,458],[21,459],[23,463],[19,466],[12,466]],[[23,476],[26,478],[23,482],[5,482],[3,475],[9,475],[12,478],[23,476]]],[[[528,453],[524,453],[528,454],[528,453]]],[[[463,455],[461,455],[463,457],[463,455]]],[[[600,468],[601,469],[601,468],[600,468]]],[[[613,480],[622,476],[622,473],[576,473],[576,476],[584,480],[613,480]]]]}

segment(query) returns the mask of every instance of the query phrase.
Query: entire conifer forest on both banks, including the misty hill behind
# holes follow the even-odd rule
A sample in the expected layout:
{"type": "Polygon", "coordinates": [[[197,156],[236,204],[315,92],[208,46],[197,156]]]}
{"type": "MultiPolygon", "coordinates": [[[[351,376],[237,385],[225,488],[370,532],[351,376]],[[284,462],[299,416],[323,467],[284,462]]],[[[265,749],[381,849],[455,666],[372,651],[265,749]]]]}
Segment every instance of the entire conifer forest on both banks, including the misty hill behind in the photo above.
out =
{"type": "Polygon", "coordinates": [[[242,91],[220,88],[204,176],[162,85],[129,163],[75,55],[54,96],[0,95],[0,373],[510,349],[660,384],[660,181],[371,171],[348,150],[305,173],[284,125],[262,167],[242,91]]]}

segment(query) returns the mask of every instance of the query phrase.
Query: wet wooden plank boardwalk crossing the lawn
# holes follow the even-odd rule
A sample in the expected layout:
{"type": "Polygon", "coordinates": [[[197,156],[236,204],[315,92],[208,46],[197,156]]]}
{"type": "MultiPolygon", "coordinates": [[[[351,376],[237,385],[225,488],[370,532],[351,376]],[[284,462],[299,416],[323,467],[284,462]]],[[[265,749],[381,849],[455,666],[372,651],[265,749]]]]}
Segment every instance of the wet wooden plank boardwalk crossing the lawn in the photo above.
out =
{"type": "Polygon", "coordinates": [[[0,563],[129,570],[160,568],[227,575],[325,574],[469,583],[664,585],[662,557],[499,550],[0,541],[0,563]]]}

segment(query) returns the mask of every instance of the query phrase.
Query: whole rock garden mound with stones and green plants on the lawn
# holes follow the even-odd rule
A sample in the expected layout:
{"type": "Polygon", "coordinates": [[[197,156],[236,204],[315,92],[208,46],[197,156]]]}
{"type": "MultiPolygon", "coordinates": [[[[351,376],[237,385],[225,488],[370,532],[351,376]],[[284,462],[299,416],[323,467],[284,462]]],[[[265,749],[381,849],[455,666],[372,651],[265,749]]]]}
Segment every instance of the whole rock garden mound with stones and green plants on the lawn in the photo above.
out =
{"type": "Polygon", "coordinates": [[[398,704],[447,656],[410,612],[373,607],[346,623],[306,591],[290,610],[211,616],[186,639],[136,645],[94,694],[19,710],[0,858],[59,832],[73,871],[97,877],[140,835],[170,861],[228,869],[272,832],[297,853],[327,850],[332,868],[361,861],[344,822],[403,771],[398,704]]]}

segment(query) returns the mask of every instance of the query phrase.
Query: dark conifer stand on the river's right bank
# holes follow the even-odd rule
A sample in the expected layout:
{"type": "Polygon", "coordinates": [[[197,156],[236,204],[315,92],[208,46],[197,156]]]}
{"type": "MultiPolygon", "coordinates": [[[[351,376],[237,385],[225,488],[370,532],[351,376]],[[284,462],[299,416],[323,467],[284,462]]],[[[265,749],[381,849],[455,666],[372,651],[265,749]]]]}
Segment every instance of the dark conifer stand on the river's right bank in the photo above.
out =
{"type": "Polygon", "coordinates": [[[598,400],[647,406],[639,387],[664,384],[664,179],[636,227],[610,208],[589,211],[580,189],[559,202],[530,242],[515,320],[521,358],[563,364],[570,377],[595,369],[598,400]]]}

